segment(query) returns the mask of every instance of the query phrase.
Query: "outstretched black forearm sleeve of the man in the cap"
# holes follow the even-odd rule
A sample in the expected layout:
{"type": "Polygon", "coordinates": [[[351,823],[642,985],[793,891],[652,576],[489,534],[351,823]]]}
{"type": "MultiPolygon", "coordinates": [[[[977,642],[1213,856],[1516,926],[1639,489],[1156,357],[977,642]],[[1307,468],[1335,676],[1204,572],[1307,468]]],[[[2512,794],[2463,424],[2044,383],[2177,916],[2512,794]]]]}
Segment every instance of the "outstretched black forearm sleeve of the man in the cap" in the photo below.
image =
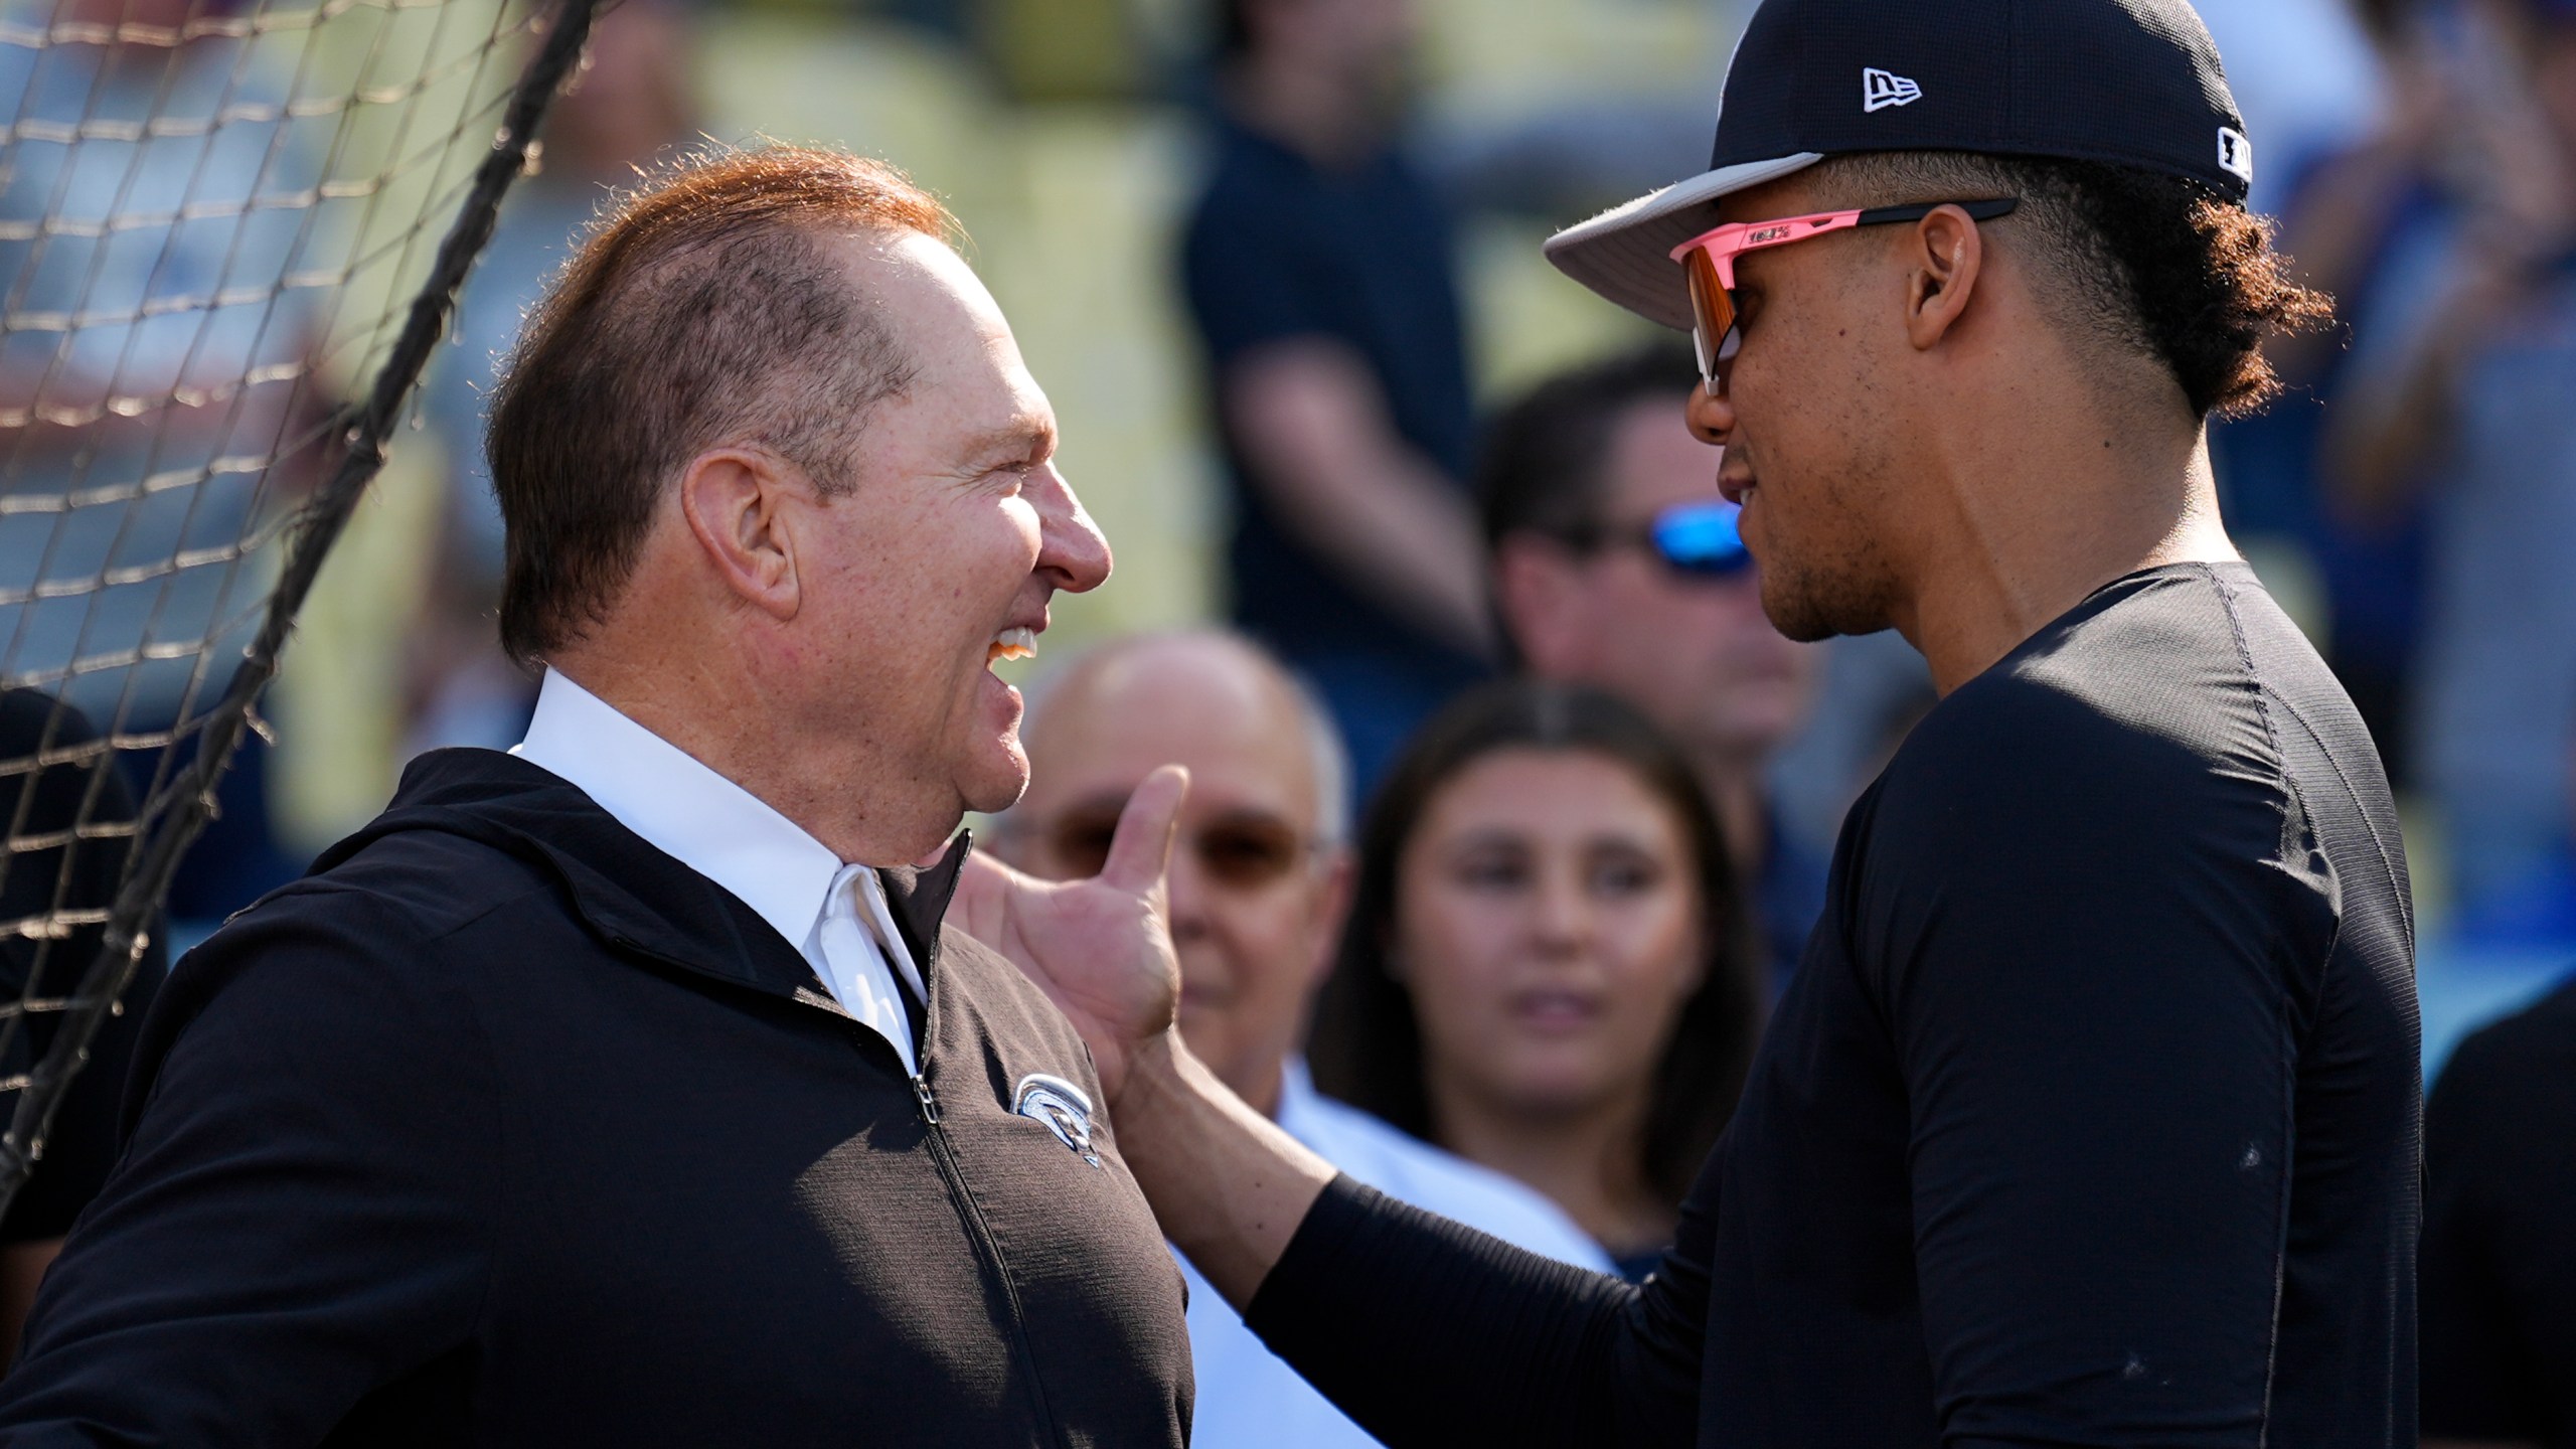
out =
{"type": "Polygon", "coordinates": [[[1643,1289],[1334,1178],[1244,1323],[1388,1449],[1682,1446],[1698,1431],[1716,1173],[1643,1289]]]}

